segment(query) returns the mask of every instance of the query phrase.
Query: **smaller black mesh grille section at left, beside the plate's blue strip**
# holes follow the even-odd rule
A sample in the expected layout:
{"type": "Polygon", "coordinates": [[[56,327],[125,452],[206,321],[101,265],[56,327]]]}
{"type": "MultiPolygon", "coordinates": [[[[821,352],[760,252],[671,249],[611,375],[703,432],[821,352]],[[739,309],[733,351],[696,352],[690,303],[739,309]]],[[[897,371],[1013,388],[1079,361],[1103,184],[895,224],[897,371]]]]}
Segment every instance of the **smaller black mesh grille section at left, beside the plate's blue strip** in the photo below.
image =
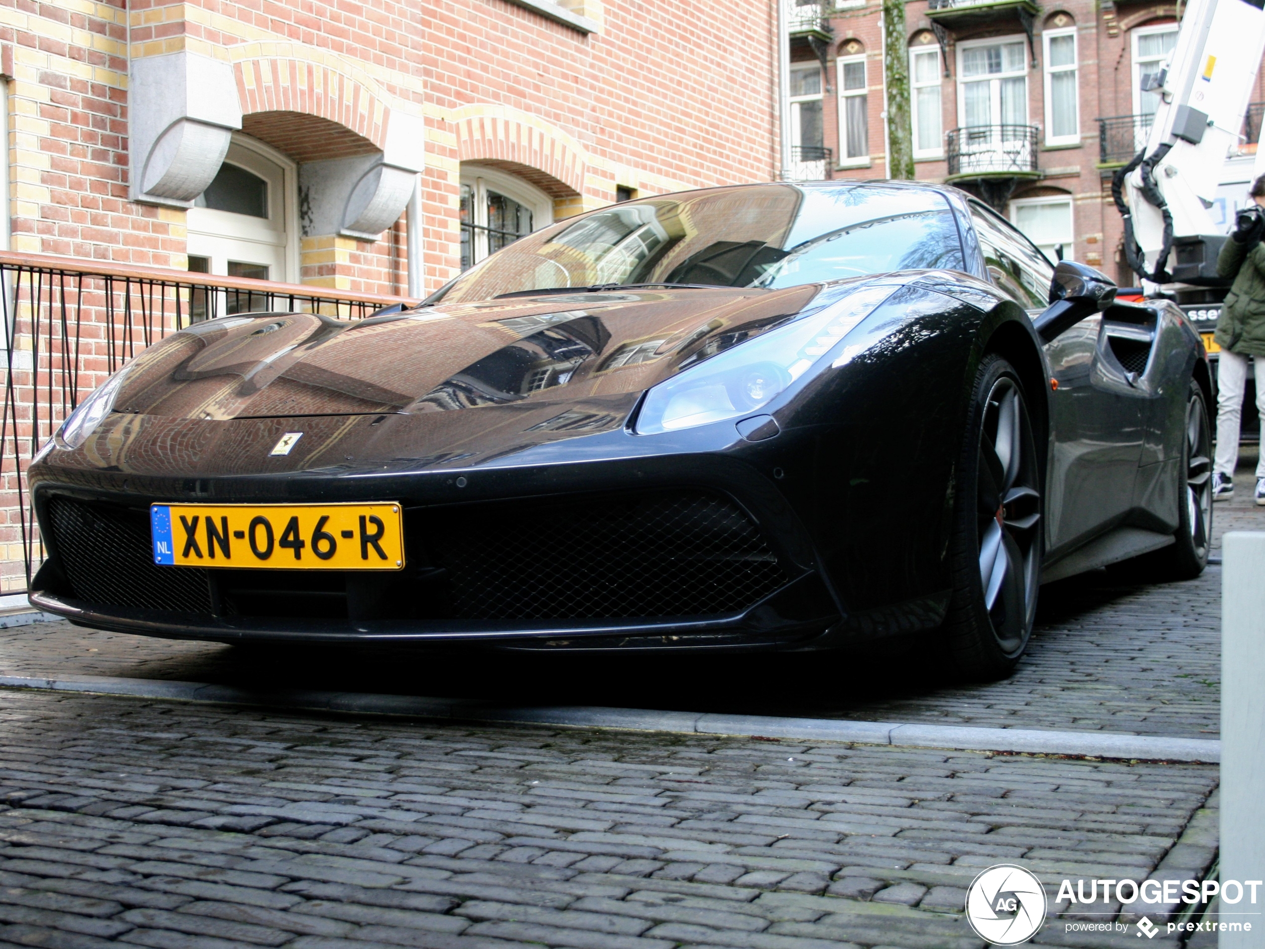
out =
{"type": "Polygon", "coordinates": [[[99,606],[210,612],[206,571],[153,563],[144,510],[52,497],[48,520],[75,599],[99,606]]]}

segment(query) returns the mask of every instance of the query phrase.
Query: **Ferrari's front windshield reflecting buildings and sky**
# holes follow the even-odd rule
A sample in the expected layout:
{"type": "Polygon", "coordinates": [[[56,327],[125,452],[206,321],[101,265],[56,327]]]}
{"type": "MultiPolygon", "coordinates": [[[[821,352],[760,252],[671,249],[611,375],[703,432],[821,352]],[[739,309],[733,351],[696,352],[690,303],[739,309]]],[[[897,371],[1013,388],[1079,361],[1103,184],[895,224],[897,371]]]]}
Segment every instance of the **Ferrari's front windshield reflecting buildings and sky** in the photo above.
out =
{"type": "Polygon", "coordinates": [[[963,268],[947,200],[883,185],[750,185],[646,197],[565,220],[463,273],[444,302],[564,287],[781,288],[963,268]]]}

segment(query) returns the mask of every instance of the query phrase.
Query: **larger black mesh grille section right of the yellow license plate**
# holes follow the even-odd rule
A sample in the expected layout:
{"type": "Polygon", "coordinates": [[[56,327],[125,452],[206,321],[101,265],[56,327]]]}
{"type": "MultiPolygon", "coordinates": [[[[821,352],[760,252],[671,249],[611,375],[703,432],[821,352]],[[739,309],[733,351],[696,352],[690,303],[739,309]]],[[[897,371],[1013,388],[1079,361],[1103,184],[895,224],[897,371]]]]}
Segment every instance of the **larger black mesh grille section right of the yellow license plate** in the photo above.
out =
{"type": "Polygon", "coordinates": [[[726,614],[787,581],[746,515],[701,491],[497,504],[448,520],[433,554],[457,619],[726,614]]]}

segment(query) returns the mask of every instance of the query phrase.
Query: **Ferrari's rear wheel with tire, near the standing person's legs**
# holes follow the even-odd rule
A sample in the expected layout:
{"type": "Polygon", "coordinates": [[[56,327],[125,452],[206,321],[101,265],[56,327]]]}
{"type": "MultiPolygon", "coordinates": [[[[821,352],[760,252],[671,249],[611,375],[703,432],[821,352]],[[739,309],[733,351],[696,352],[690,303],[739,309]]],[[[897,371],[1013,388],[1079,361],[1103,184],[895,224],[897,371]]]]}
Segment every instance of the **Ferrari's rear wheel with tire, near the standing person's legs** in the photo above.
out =
{"type": "Polygon", "coordinates": [[[1138,566],[1164,580],[1198,577],[1208,566],[1212,547],[1212,433],[1203,390],[1194,380],[1190,380],[1185,420],[1175,543],[1137,558],[1138,566]]]}

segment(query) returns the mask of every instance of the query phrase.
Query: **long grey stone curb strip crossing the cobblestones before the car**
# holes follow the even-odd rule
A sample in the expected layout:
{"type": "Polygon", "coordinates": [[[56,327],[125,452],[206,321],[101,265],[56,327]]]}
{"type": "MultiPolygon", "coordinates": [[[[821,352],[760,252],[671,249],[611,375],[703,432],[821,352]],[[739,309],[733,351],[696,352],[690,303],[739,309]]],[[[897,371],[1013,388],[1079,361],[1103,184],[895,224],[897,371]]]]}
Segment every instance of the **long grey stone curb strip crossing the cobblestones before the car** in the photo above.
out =
{"type": "Polygon", "coordinates": [[[1090,758],[1203,762],[1209,764],[1221,762],[1221,741],[1199,738],[1125,735],[1111,731],[1037,731],[955,725],[910,725],[893,721],[783,719],[770,715],[716,715],[649,709],[605,709],[601,706],[498,706],[468,698],[306,690],[259,692],[206,682],[106,676],[40,678],[0,674],[0,687],[371,715],[409,715],[463,721],[683,731],[700,735],[788,738],[807,741],[846,741],[972,752],[1071,754],[1090,758]]]}

